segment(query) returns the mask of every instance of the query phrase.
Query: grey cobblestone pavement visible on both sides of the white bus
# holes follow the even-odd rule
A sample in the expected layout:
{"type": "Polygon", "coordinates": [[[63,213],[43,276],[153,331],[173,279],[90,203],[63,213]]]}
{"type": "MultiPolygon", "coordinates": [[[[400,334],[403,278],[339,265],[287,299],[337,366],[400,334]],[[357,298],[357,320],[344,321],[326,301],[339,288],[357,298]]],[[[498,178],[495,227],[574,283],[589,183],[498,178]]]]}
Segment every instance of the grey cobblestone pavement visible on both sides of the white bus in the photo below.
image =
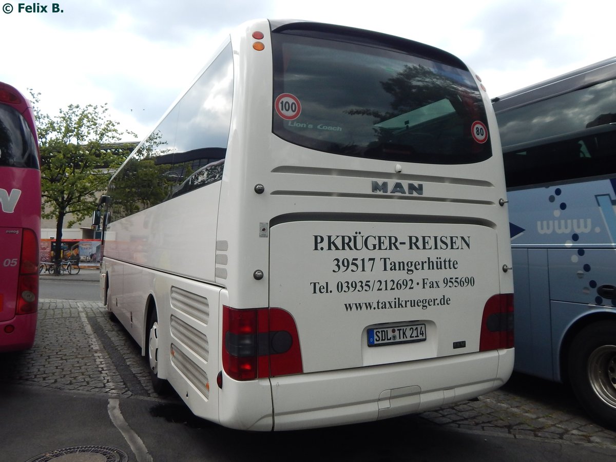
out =
{"type": "MultiPolygon", "coordinates": [[[[33,349],[2,362],[0,382],[156,397],[139,347],[99,302],[42,300],[33,349]]],[[[418,418],[459,431],[616,448],[616,432],[590,421],[564,386],[527,376],[418,418]]]]}

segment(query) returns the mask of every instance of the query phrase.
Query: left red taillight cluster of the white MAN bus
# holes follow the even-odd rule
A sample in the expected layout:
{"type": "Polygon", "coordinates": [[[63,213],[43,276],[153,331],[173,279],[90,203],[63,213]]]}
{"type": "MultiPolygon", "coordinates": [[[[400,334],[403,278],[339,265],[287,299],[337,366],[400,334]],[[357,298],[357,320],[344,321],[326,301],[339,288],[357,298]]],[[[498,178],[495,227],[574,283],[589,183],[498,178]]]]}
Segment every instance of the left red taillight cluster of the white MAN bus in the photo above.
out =
{"type": "Polygon", "coordinates": [[[222,307],[222,367],[235,380],[303,370],[295,320],[280,308],[222,307]]]}

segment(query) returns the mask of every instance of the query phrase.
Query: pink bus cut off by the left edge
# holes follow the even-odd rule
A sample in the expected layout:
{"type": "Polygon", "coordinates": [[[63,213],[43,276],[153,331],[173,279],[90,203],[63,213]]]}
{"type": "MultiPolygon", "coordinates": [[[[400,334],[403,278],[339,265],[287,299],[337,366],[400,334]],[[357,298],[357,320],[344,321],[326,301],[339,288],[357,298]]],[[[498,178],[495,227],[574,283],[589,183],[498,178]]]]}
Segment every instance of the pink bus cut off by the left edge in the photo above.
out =
{"type": "Polygon", "coordinates": [[[34,113],[0,82],[0,352],[34,343],[38,310],[41,172],[34,113]]]}

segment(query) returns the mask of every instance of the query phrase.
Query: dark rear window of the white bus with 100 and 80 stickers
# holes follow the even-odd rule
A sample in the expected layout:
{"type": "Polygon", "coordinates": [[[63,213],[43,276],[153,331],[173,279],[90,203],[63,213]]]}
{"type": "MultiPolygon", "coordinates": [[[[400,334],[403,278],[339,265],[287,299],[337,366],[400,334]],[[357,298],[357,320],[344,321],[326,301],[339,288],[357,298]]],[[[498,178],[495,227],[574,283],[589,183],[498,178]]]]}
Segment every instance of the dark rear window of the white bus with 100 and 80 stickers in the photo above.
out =
{"type": "Polygon", "coordinates": [[[390,44],[273,33],[273,132],[339,155],[475,163],[492,155],[484,103],[466,68],[390,44]],[[479,124],[477,124],[479,122],[479,124]]]}

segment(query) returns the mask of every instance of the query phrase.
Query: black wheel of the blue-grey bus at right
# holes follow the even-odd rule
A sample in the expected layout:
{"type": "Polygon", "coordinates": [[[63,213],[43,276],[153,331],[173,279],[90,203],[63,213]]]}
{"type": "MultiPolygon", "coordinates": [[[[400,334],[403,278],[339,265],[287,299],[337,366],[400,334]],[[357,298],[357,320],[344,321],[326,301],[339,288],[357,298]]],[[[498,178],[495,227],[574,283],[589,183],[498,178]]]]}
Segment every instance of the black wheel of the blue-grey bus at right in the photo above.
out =
{"type": "Polygon", "coordinates": [[[616,321],[583,328],[569,349],[569,381],[598,423],[616,428],[616,321]]]}

